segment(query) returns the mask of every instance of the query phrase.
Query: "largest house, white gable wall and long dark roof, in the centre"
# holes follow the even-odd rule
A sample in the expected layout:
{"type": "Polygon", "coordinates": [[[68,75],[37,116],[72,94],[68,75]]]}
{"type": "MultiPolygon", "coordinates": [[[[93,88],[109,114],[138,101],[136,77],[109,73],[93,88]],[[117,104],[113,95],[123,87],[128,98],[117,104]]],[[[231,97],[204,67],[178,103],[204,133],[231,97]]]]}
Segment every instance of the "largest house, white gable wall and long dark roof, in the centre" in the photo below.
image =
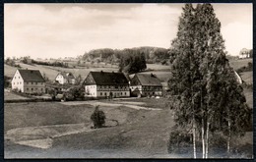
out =
{"type": "Polygon", "coordinates": [[[129,82],[123,73],[90,72],[85,81],[85,95],[90,97],[129,97],[129,82]]]}

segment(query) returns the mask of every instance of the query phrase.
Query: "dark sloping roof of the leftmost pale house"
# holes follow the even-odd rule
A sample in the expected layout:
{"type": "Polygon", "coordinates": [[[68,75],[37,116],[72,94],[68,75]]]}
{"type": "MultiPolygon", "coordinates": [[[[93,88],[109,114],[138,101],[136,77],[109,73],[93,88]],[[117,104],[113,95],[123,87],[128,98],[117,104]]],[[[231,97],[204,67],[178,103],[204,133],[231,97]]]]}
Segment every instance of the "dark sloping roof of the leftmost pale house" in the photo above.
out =
{"type": "Polygon", "coordinates": [[[24,81],[44,82],[40,71],[38,70],[18,70],[24,81]]]}

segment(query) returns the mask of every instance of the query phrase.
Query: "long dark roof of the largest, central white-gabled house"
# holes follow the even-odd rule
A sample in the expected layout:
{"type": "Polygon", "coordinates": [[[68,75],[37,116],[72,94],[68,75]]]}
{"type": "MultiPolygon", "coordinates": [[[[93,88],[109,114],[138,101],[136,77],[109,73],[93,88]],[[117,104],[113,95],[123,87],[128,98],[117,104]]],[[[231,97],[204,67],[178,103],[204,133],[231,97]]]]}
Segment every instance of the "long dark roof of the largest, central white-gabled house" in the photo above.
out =
{"type": "Polygon", "coordinates": [[[109,73],[109,72],[90,72],[96,84],[99,85],[115,85],[115,84],[129,84],[123,73],[109,73]]]}

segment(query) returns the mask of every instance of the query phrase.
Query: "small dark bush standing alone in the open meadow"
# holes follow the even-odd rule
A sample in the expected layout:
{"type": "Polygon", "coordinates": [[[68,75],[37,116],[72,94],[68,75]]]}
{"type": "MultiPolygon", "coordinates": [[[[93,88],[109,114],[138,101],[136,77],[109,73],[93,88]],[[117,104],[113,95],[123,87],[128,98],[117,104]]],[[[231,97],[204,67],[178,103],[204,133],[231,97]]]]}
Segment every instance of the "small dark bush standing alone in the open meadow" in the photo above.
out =
{"type": "Polygon", "coordinates": [[[105,124],[105,114],[102,110],[98,110],[98,105],[96,106],[96,110],[91,116],[91,120],[94,123],[94,129],[102,128],[105,124]]]}

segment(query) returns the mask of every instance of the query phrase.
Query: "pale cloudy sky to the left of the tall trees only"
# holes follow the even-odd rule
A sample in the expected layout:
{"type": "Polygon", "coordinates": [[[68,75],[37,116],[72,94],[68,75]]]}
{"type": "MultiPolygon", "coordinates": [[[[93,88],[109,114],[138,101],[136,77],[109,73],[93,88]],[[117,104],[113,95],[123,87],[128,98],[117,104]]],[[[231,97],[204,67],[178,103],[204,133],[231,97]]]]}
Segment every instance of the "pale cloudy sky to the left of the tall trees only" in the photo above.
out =
{"type": "Polygon", "coordinates": [[[177,23],[173,15],[180,10],[164,5],[128,6],[112,11],[87,5],[56,6],[56,10],[47,5],[5,5],[5,54],[60,57],[103,47],[168,47],[177,23]]]}

